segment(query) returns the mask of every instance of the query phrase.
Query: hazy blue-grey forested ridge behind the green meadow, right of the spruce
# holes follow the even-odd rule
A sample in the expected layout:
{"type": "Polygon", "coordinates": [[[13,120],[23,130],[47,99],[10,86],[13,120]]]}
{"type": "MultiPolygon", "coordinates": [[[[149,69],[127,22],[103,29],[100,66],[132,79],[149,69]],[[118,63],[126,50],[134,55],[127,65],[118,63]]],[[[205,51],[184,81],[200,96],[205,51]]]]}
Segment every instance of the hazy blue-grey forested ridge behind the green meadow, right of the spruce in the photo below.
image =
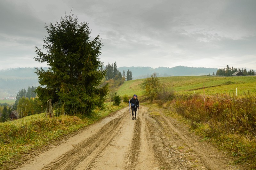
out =
{"type": "Polygon", "coordinates": [[[168,76],[199,76],[199,75],[212,75],[212,73],[217,72],[218,68],[204,68],[204,67],[187,67],[187,66],[175,66],[169,67],[119,67],[118,70],[123,73],[132,71],[132,78],[142,79],[149,77],[152,73],[157,73],[158,77],[168,77],[168,76]]]}

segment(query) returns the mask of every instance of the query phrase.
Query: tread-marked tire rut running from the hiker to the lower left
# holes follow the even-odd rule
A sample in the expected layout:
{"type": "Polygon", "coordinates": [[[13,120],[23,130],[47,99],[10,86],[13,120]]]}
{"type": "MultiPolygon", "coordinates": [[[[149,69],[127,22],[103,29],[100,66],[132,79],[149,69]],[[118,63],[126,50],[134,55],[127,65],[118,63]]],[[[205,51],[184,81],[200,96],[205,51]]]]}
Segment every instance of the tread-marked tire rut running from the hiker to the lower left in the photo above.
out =
{"type": "Polygon", "coordinates": [[[44,170],[48,169],[74,169],[80,162],[86,159],[90,154],[95,154],[88,168],[92,168],[94,160],[108,146],[108,144],[122,131],[122,119],[125,114],[119,118],[109,121],[96,135],[81,141],[75,145],[73,149],[61,155],[58,159],[44,166],[44,170]]]}

